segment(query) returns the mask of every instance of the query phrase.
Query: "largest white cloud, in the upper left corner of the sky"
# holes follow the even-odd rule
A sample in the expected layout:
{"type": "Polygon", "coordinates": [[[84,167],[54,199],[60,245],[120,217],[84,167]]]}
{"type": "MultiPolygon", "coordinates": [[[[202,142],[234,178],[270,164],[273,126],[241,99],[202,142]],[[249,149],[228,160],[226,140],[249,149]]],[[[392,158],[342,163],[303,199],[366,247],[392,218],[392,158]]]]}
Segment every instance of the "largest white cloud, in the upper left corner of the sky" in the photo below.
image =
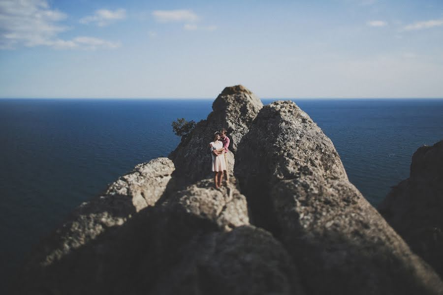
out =
{"type": "Polygon", "coordinates": [[[67,15],[49,7],[46,0],[0,0],[0,49],[49,46],[56,49],[116,48],[118,42],[93,37],[58,38],[68,28],[67,15]]]}

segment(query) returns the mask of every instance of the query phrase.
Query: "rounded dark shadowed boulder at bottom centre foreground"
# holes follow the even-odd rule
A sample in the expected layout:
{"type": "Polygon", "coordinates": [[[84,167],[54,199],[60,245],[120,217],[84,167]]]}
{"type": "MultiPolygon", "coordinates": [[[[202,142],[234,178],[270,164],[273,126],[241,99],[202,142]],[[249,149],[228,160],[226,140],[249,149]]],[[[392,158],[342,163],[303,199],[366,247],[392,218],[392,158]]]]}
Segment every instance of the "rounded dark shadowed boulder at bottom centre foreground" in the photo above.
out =
{"type": "Polygon", "coordinates": [[[153,294],[305,294],[283,246],[264,230],[242,226],[190,247],[153,294]]]}

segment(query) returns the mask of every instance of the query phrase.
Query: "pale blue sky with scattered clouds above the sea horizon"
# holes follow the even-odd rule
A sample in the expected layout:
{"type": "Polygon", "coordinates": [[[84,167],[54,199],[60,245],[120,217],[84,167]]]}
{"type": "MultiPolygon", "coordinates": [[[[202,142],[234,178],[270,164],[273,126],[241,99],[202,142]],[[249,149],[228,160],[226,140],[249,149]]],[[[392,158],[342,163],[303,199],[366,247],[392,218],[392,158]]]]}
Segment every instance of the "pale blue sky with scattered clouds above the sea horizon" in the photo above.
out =
{"type": "Polygon", "coordinates": [[[443,98],[442,0],[0,0],[0,97],[443,98]]]}

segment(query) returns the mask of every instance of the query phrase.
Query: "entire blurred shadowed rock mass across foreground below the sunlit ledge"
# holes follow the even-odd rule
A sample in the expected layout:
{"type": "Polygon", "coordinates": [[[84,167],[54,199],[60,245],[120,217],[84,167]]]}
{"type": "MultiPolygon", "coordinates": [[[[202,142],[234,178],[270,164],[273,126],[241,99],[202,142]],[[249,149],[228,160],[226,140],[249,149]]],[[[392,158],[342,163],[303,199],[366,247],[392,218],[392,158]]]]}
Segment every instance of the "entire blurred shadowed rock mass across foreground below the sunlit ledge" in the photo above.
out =
{"type": "Polygon", "coordinates": [[[22,282],[20,294],[304,294],[269,233],[224,232],[180,206],[146,207],[22,282]]]}

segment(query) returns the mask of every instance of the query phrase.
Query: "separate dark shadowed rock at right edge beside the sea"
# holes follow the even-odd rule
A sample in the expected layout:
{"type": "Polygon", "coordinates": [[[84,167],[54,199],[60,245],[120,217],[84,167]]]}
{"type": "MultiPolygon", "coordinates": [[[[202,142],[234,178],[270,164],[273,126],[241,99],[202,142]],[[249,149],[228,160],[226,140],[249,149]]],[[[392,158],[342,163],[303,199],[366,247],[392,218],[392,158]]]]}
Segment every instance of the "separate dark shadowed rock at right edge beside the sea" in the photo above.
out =
{"type": "Polygon", "coordinates": [[[417,149],[410,177],[392,188],[379,211],[443,277],[443,141],[417,149]]]}

